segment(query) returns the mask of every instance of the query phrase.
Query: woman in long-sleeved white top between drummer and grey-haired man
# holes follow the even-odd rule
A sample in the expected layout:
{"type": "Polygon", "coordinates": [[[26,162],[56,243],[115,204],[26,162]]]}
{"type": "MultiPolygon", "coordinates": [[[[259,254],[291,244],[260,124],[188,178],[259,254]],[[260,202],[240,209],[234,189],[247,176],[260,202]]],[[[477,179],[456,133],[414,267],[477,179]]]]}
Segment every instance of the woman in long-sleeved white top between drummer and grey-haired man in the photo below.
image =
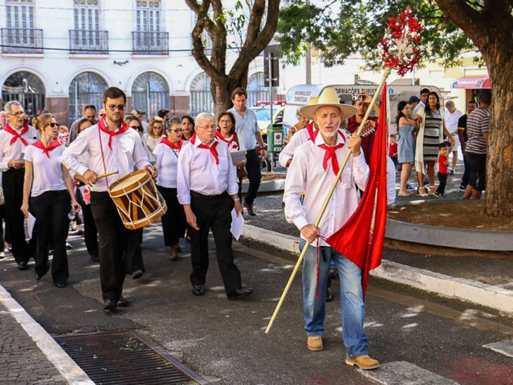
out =
{"type": "Polygon", "coordinates": [[[182,126],[180,119],[171,118],[165,123],[165,135],[157,144],[153,155],[157,161],[155,168],[158,171],[157,188],[167,205],[167,212],[160,218],[164,243],[171,247],[170,258],[178,259],[179,238],[185,233],[185,212],[177,198],[177,166],[178,154],[184,145],[182,140],[182,126]]]}

